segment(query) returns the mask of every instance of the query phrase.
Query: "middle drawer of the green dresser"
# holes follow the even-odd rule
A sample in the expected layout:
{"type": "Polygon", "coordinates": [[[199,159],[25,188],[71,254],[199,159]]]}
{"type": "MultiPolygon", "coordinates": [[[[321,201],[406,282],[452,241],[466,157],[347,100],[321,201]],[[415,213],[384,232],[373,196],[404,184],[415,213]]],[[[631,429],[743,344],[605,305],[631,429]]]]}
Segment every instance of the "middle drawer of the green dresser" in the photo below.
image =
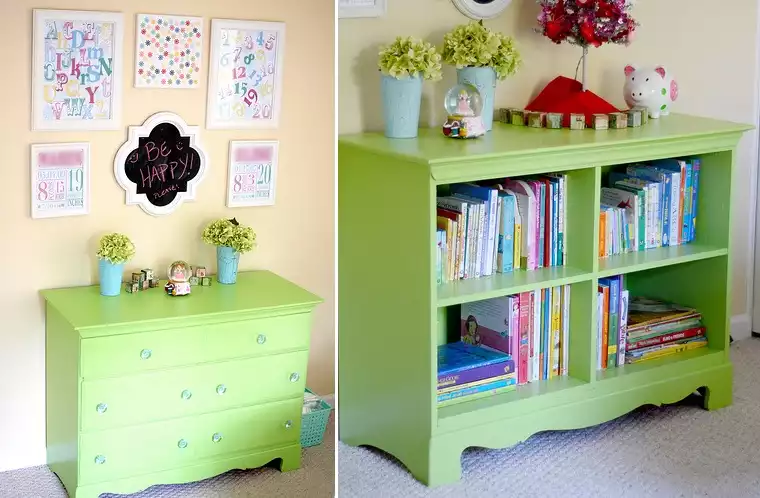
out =
{"type": "Polygon", "coordinates": [[[308,351],[82,382],[82,431],[302,396],[308,351]]]}

